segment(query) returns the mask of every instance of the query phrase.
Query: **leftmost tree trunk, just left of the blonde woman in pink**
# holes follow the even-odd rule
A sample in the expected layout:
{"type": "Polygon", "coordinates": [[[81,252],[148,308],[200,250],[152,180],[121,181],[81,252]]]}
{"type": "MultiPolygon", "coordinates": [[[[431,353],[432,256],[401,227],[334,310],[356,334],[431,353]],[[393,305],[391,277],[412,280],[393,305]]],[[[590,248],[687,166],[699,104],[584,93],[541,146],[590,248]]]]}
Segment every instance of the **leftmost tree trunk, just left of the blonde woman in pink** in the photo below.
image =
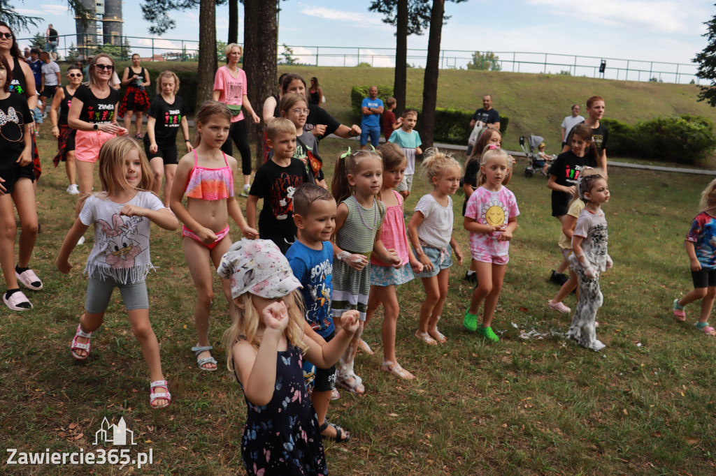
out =
{"type": "Polygon", "coordinates": [[[211,99],[216,74],[216,1],[199,4],[199,66],[196,78],[196,109],[211,99]]]}

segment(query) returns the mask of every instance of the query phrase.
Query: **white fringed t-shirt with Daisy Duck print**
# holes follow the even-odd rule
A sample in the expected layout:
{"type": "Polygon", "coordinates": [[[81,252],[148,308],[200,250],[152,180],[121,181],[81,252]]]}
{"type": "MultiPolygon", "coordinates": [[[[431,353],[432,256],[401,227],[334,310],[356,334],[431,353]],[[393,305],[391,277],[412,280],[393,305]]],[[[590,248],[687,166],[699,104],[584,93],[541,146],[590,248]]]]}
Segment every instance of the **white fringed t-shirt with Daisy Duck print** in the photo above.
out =
{"type": "MultiPolygon", "coordinates": [[[[160,210],[162,201],[151,192],[137,192],[126,204],[160,210]]],[[[120,215],[126,204],[90,195],[79,220],[95,225],[95,246],[87,258],[84,273],[98,278],[112,277],[122,284],[142,282],[153,269],[149,254],[150,219],[120,215]]]]}

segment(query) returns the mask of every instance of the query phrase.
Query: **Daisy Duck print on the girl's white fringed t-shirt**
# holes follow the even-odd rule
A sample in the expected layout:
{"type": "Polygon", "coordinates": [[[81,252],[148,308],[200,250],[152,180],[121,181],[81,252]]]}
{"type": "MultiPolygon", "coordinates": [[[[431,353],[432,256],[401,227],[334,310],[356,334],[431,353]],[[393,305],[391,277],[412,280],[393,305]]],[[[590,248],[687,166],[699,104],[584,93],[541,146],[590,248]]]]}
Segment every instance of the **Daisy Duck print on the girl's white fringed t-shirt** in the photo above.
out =
{"type": "MultiPolygon", "coordinates": [[[[137,237],[137,224],[142,217],[127,217],[125,222],[119,214],[112,215],[112,224],[100,219],[102,245],[107,244],[105,256],[97,257],[97,261],[107,264],[112,269],[132,268],[135,258],[143,251],[137,237]]],[[[148,241],[149,237],[144,237],[148,241]]]]}

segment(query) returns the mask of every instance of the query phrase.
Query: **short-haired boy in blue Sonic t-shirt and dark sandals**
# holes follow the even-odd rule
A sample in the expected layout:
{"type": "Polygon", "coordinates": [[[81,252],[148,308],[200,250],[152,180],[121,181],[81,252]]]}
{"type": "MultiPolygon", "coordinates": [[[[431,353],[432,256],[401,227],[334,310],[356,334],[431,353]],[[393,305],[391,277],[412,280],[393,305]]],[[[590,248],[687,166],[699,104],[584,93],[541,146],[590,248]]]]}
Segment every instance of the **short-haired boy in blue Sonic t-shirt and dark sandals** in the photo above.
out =
{"type": "MultiPolygon", "coordinates": [[[[286,258],[294,276],[303,285],[301,295],[306,304],[306,322],[329,342],[334,337],[331,317],[333,245],[329,240],[336,228],[336,201],[328,190],[314,184],[303,184],[294,193],[294,222],[299,234],[286,258]]],[[[349,440],[349,432],[326,421],[335,387],[336,366],[316,368],[311,403],[321,422],[321,435],[340,443],[349,440]]]]}

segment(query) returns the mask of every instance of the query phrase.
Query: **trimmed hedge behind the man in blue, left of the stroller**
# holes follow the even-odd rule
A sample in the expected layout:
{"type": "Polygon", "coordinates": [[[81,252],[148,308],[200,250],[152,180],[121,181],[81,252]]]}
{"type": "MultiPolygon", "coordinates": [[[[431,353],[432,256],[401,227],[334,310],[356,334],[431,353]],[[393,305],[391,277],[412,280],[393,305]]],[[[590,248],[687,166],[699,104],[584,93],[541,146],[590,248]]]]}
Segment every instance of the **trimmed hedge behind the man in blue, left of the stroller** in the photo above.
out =
{"type": "MultiPolygon", "coordinates": [[[[368,97],[370,86],[353,86],[351,89],[351,107],[357,116],[361,115],[361,104],[363,98],[368,97]]],[[[387,98],[392,96],[392,86],[378,86],[379,96],[387,98]]],[[[385,100],[385,99],[383,99],[385,100]]],[[[410,109],[417,110],[417,126],[415,130],[422,135],[420,127],[421,109],[414,107],[410,109]]],[[[468,145],[468,137],[473,129],[470,128],[470,121],[473,120],[474,111],[460,111],[458,109],[445,109],[442,107],[435,108],[435,129],[433,130],[433,140],[435,142],[444,142],[445,144],[468,145]]],[[[500,116],[500,133],[504,136],[507,132],[510,118],[500,116]]]]}

